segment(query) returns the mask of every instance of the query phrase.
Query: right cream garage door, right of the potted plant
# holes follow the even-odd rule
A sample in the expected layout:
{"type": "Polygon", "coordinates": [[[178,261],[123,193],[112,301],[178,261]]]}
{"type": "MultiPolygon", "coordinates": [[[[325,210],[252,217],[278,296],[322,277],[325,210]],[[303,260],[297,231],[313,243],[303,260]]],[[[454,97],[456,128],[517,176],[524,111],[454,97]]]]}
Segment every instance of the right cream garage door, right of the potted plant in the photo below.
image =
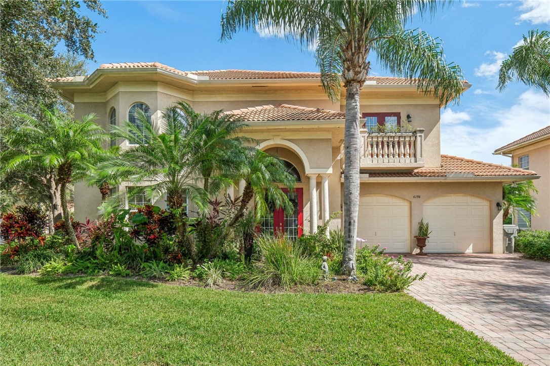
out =
{"type": "Polygon", "coordinates": [[[427,253],[488,253],[489,202],[469,195],[440,196],[424,203],[430,224],[427,253]]]}

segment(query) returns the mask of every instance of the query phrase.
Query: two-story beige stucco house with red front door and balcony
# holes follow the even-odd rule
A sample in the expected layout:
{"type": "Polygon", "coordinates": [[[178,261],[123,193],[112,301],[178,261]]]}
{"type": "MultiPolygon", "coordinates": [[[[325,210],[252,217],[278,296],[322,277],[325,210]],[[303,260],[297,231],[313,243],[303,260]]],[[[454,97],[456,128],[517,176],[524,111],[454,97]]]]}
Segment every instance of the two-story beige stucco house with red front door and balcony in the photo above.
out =
{"type": "MultiPolygon", "coordinates": [[[[259,141],[258,148],[284,159],[298,180],[289,193],[296,203],[294,214],[272,214],[263,220],[265,228],[281,226],[297,236],[317,230],[329,214],[343,208],[345,96],[331,102],[318,73],[180,71],[160,63],[120,63],[101,65],[86,77],[52,80],[52,85],[74,102],[76,116],[95,113],[105,129],[132,121],[136,108],[157,118],[180,100],[197,111],[239,114],[250,126],[245,134],[259,141]]],[[[469,87],[465,82],[464,90],[469,87]]],[[[537,178],[536,173],[441,155],[441,107],[406,79],[368,77],[361,91],[357,236],[367,244],[381,243],[389,252],[412,252],[423,218],[433,230],[426,252],[502,253],[502,212],[497,208],[502,185],[537,178]],[[377,126],[390,131],[401,126],[407,132],[379,132],[377,126]]],[[[235,182],[229,194],[238,195],[243,187],[244,182],[235,182]]],[[[77,220],[96,217],[97,188],[76,184],[74,200],[77,220]]],[[[145,197],[136,198],[136,203],[144,202],[145,197]]],[[[340,225],[340,218],[331,223],[340,225]]]]}

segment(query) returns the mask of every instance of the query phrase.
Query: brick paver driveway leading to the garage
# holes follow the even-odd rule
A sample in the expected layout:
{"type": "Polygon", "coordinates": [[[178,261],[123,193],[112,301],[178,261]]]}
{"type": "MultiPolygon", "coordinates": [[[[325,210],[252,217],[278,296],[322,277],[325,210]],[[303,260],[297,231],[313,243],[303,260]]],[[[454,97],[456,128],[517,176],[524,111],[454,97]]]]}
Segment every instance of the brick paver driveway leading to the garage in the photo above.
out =
{"type": "Polygon", "coordinates": [[[518,361],[550,365],[550,264],[518,254],[406,256],[409,293],[518,361]]]}

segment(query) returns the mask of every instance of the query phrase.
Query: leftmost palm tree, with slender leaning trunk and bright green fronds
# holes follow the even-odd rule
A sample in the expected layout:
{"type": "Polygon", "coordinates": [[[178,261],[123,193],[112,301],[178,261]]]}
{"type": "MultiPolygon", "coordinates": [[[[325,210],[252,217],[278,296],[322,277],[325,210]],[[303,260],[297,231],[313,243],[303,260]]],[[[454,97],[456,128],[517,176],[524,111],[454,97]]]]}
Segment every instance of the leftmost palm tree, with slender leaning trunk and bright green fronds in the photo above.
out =
{"type": "Polygon", "coordinates": [[[50,171],[52,184],[59,186],[63,221],[70,241],[80,248],[71,224],[68,208],[68,186],[84,179],[89,166],[105,154],[101,142],[108,135],[95,123],[94,114],[81,120],[72,120],[57,109],[42,108],[43,119],[36,120],[27,114],[19,114],[24,123],[5,141],[14,154],[5,165],[7,171],[40,164],[50,171]]]}

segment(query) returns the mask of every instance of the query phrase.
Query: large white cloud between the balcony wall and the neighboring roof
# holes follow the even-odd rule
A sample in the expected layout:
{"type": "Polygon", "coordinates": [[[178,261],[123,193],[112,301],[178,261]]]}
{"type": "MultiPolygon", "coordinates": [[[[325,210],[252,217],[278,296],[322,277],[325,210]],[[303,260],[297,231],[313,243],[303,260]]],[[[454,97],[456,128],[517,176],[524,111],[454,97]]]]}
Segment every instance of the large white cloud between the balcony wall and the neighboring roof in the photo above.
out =
{"type": "MultiPolygon", "coordinates": [[[[444,125],[442,122],[441,153],[509,165],[509,158],[494,156],[493,151],[547,126],[550,120],[549,102],[543,93],[529,90],[522,93],[510,108],[494,110],[494,115],[487,121],[472,117],[475,125],[444,125]],[[489,124],[492,126],[488,127],[489,124]]],[[[442,113],[442,120],[446,112],[442,113]]]]}

